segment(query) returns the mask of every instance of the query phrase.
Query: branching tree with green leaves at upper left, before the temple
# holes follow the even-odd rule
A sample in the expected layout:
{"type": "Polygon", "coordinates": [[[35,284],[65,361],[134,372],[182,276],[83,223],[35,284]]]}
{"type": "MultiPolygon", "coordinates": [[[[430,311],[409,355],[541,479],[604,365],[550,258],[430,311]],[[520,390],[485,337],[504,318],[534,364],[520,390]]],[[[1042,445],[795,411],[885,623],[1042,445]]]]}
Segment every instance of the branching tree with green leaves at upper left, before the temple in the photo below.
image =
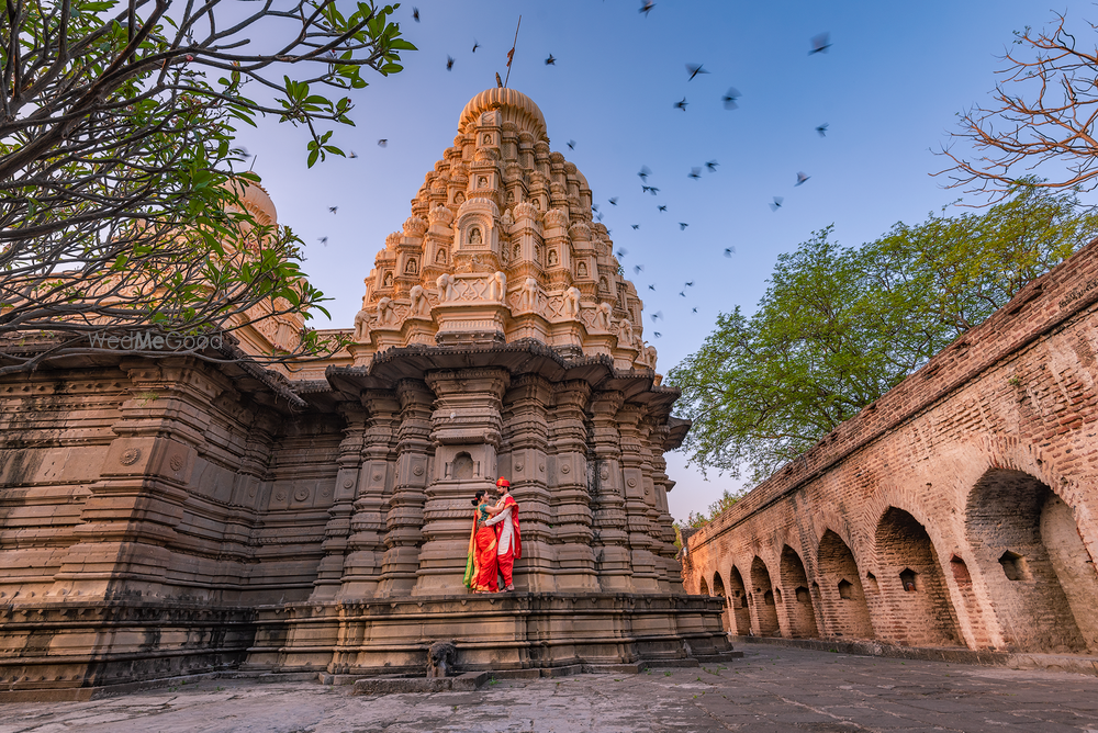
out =
{"type": "MultiPolygon", "coordinates": [[[[7,350],[0,373],[87,351],[104,328],[232,330],[323,311],[300,239],[244,205],[259,178],[235,133],[270,116],[307,131],[309,166],[343,155],[333,126],[354,124],[362,69],[397,72],[414,49],[396,7],[7,0],[0,341],[51,346],[7,350]]],[[[267,360],[324,348],[306,329],[267,360]]]]}

